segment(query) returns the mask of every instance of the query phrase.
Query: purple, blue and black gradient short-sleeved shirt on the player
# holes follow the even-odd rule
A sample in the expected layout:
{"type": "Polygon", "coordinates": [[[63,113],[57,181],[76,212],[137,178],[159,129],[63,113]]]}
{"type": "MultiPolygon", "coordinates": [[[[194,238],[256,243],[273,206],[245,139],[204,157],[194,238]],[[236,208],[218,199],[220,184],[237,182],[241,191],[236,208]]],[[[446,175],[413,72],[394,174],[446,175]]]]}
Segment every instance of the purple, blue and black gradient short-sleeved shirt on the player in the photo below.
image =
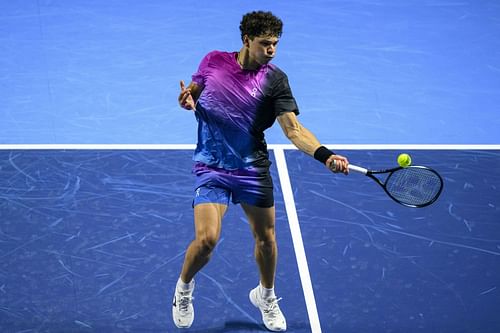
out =
{"type": "Polygon", "coordinates": [[[245,70],[237,56],[210,52],[193,74],[193,82],[203,89],[196,104],[193,159],[225,170],[267,168],[264,130],[284,112],[298,114],[298,107],[283,71],[272,64],[245,70]]]}

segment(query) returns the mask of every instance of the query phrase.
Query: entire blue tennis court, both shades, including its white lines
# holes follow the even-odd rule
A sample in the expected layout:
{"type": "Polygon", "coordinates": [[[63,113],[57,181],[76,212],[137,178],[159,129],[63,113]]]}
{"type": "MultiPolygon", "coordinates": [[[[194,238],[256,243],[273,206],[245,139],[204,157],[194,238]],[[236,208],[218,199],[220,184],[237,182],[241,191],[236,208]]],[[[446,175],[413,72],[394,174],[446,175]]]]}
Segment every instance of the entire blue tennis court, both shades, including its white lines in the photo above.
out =
{"type": "MultiPolygon", "coordinates": [[[[500,330],[497,1],[3,1],[0,331],[182,332],[196,121],[177,104],[242,14],[284,21],[274,61],[300,121],[373,169],[401,152],[444,178],[411,209],[333,175],[275,125],[280,306],[289,332],[500,330]]],[[[231,205],[185,332],[263,332],[253,238],[231,205]]]]}

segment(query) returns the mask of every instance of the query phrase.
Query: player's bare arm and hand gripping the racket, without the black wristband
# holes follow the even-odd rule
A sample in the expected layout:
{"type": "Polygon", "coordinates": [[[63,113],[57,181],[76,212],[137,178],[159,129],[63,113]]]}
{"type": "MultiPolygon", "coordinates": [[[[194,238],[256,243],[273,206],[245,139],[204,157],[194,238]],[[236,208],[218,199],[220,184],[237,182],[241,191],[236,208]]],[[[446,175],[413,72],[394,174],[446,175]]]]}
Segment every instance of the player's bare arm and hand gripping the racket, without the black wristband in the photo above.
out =
{"type": "MultiPolygon", "coordinates": [[[[277,118],[283,132],[286,137],[301,151],[304,153],[316,157],[318,149],[323,149],[324,147],[318,141],[316,136],[311,133],[307,128],[302,126],[302,124],[297,119],[297,116],[293,112],[284,112],[277,118]]],[[[347,174],[349,172],[348,166],[349,161],[346,157],[341,155],[331,155],[325,161],[327,168],[333,172],[343,172],[347,174]],[[335,161],[335,162],[334,162],[335,161]]]]}

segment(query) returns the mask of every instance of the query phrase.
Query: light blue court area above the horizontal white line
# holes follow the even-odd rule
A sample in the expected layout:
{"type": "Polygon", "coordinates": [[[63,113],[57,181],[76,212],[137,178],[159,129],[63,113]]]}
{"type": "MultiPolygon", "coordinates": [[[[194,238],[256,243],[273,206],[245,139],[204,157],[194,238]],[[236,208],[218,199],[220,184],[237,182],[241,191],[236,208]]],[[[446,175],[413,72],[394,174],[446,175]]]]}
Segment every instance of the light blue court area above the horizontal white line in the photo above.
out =
{"type": "Polygon", "coordinates": [[[284,21],[273,62],[322,142],[499,143],[497,0],[1,1],[0,142],[194,143],[179,80],[256,9],[284,21]]]}

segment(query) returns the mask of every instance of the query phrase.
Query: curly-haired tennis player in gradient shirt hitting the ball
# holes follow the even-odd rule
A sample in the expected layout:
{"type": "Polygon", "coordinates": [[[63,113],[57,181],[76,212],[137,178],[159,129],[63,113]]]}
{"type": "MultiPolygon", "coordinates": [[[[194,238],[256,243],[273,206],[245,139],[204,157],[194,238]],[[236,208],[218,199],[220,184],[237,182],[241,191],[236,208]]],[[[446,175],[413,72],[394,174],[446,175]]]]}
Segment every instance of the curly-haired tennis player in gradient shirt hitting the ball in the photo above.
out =
{"type": "Polygon", "coordinates": [[[198,144],[193,158],[195,239],[186,251],[172,307],[179,328],[193,323],[194,276],[210,259],[231,200],[241,204],[255,238],[260,283],[250,291],[250,301],[261,311],[268,330],[286,330],[280,299],[274,293],[275,210],[265,129],[278,119],[287,138],[301,151],[333,172],[348,172],[347,159],[322,146],[298,122],[299,110],[287,76],[270,64],[282,26],[270,12],[244,15],[240,51],[210,52],[189,86],[181,81],[179,104],[195,112],[198,144]]]}

